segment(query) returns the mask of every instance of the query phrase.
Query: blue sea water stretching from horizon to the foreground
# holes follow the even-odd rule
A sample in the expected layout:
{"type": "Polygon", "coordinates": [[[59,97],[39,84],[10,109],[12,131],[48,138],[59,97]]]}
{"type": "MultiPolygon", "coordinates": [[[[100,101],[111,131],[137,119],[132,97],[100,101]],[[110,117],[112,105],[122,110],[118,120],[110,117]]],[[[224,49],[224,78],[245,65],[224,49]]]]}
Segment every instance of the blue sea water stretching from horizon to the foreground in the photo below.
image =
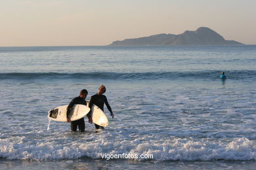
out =
{"type": "Polygon", "coordinates": [[[0,168],[253,169],[255,87],[256,46],[0,47],[0,168]],[[104,131],[47,131],[49,110],[101,84],[104,131]]]}

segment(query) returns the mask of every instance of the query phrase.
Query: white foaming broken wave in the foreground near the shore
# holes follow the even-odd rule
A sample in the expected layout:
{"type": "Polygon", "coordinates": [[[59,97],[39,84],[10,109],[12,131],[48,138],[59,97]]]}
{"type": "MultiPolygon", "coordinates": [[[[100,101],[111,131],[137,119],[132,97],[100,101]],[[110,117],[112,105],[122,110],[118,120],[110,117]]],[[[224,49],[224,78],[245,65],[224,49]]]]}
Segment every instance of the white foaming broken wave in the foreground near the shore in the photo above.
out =
{"type": "MultiPolygon", "coordinates": [[[[65,160],[77,158],[104,159],[103,154],[151,155],[150,159],[130,159],[136,161],[213,161],[213,160],[256,160],[255,141],[236,138],[232,141],[192,141],[170,139],[167,141],[110,142],[100,141],[58,143],[45,141],[29,144],[24,137],[13,137],[15,141],[0,139],[0,158],[9,160],[65,160]]],[[[129,159],[129,158],[126,158],[129,159]]]]}

